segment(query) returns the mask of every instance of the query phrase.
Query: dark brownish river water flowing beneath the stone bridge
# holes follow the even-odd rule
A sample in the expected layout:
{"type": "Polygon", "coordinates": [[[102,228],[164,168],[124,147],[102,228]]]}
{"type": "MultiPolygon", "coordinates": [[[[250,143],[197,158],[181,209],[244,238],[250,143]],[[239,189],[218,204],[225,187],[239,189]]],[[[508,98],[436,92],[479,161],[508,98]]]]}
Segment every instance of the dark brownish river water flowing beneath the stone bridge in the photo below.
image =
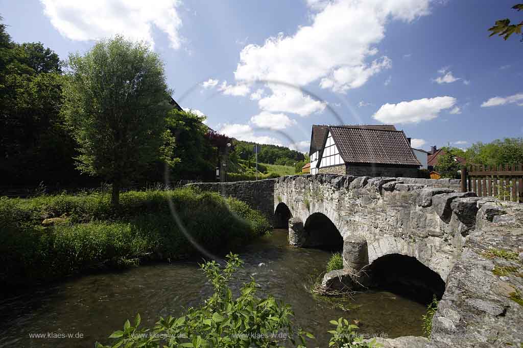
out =
{"type": "MultiPolygon", "coordinates": [[[[358,320],[360,331],[368,335],[422,335],[424,305],[399,295],[367,291],[354,294],[353,299],[313,296],[311,279],[322,273],[331,253],[290,247],[286,230],[257,239],[240,255],[244,269],[238,271],[233,287],[254,275],[260,296],[272,293],[291,304],[295,322],[317,339],[311,346],[328,346],[329,320],[339,317],[358,320]]],[[[136,313],[145,325],[153,325],[159,316],[179,315],[211,293],[196,261],[85,275],[0,300],[0,346],[65,348],[109,343],[112,331],[121,330],[123,322],[136,313]],[[46,337],[31,338],[35,334],[46,337]]]]}

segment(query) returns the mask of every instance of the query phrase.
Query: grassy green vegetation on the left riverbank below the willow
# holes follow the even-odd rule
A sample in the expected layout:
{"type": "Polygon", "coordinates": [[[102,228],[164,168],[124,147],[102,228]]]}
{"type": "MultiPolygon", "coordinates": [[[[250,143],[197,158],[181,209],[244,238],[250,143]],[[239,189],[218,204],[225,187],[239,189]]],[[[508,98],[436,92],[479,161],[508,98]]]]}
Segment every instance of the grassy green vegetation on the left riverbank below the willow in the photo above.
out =
{"type": "Polygon", "coordinates": [[[271,229],[244,202],[188,188],[129,191],[118,206],[108,191],[2,197],[0,221],[0,282],[8,286],[200,255],[185,233],[220,253],[271,229]]]}

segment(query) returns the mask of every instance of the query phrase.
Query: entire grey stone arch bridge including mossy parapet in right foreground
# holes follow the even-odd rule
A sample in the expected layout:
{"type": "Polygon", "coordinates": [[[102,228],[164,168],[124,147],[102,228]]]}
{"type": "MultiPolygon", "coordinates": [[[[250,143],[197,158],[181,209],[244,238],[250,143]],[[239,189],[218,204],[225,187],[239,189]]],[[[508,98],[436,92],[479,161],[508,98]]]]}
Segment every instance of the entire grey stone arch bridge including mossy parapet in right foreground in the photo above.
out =
{"type": "Polygon", "coordinates": [[[460,193],[452,179],[319,174],[188,186],[247,202],[276,227],[289,226],[291,244],[342,243],[349,266],[402,255],[439,275],[444,293],[430,341],[399,338],[396,347],[523,346],[521,204],[460,193]]]}

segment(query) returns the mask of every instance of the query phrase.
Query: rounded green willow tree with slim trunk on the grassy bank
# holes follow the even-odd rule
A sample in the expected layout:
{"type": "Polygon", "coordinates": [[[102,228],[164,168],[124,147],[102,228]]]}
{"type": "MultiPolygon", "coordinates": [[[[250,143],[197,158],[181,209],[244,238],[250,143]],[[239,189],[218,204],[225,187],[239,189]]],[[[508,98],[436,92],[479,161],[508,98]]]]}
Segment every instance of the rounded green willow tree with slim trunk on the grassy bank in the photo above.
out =
{"type": "Polygon", "coordinates": [[[77,168],[110,182],[118,205],[122,184],[173,148],[163,62],[145,43],[117,36],[68,63],[62,115],[79,146],[77,168]]]}

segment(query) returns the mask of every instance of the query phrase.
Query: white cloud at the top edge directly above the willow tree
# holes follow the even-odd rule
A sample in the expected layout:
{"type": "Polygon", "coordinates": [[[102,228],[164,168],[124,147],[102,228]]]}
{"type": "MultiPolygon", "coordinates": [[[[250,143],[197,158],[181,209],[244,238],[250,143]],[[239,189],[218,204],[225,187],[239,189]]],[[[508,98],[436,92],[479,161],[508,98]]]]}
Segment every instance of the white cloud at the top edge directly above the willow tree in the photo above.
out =
{"type": "Polygon", "coordinates": [[[181,18],[178,0],[40,0],[44,14],[64,37],[75,41],[99,40],[122,34],[154,46],[153,26],[160,29],[173,49],[178,49],[181,18]]]}

